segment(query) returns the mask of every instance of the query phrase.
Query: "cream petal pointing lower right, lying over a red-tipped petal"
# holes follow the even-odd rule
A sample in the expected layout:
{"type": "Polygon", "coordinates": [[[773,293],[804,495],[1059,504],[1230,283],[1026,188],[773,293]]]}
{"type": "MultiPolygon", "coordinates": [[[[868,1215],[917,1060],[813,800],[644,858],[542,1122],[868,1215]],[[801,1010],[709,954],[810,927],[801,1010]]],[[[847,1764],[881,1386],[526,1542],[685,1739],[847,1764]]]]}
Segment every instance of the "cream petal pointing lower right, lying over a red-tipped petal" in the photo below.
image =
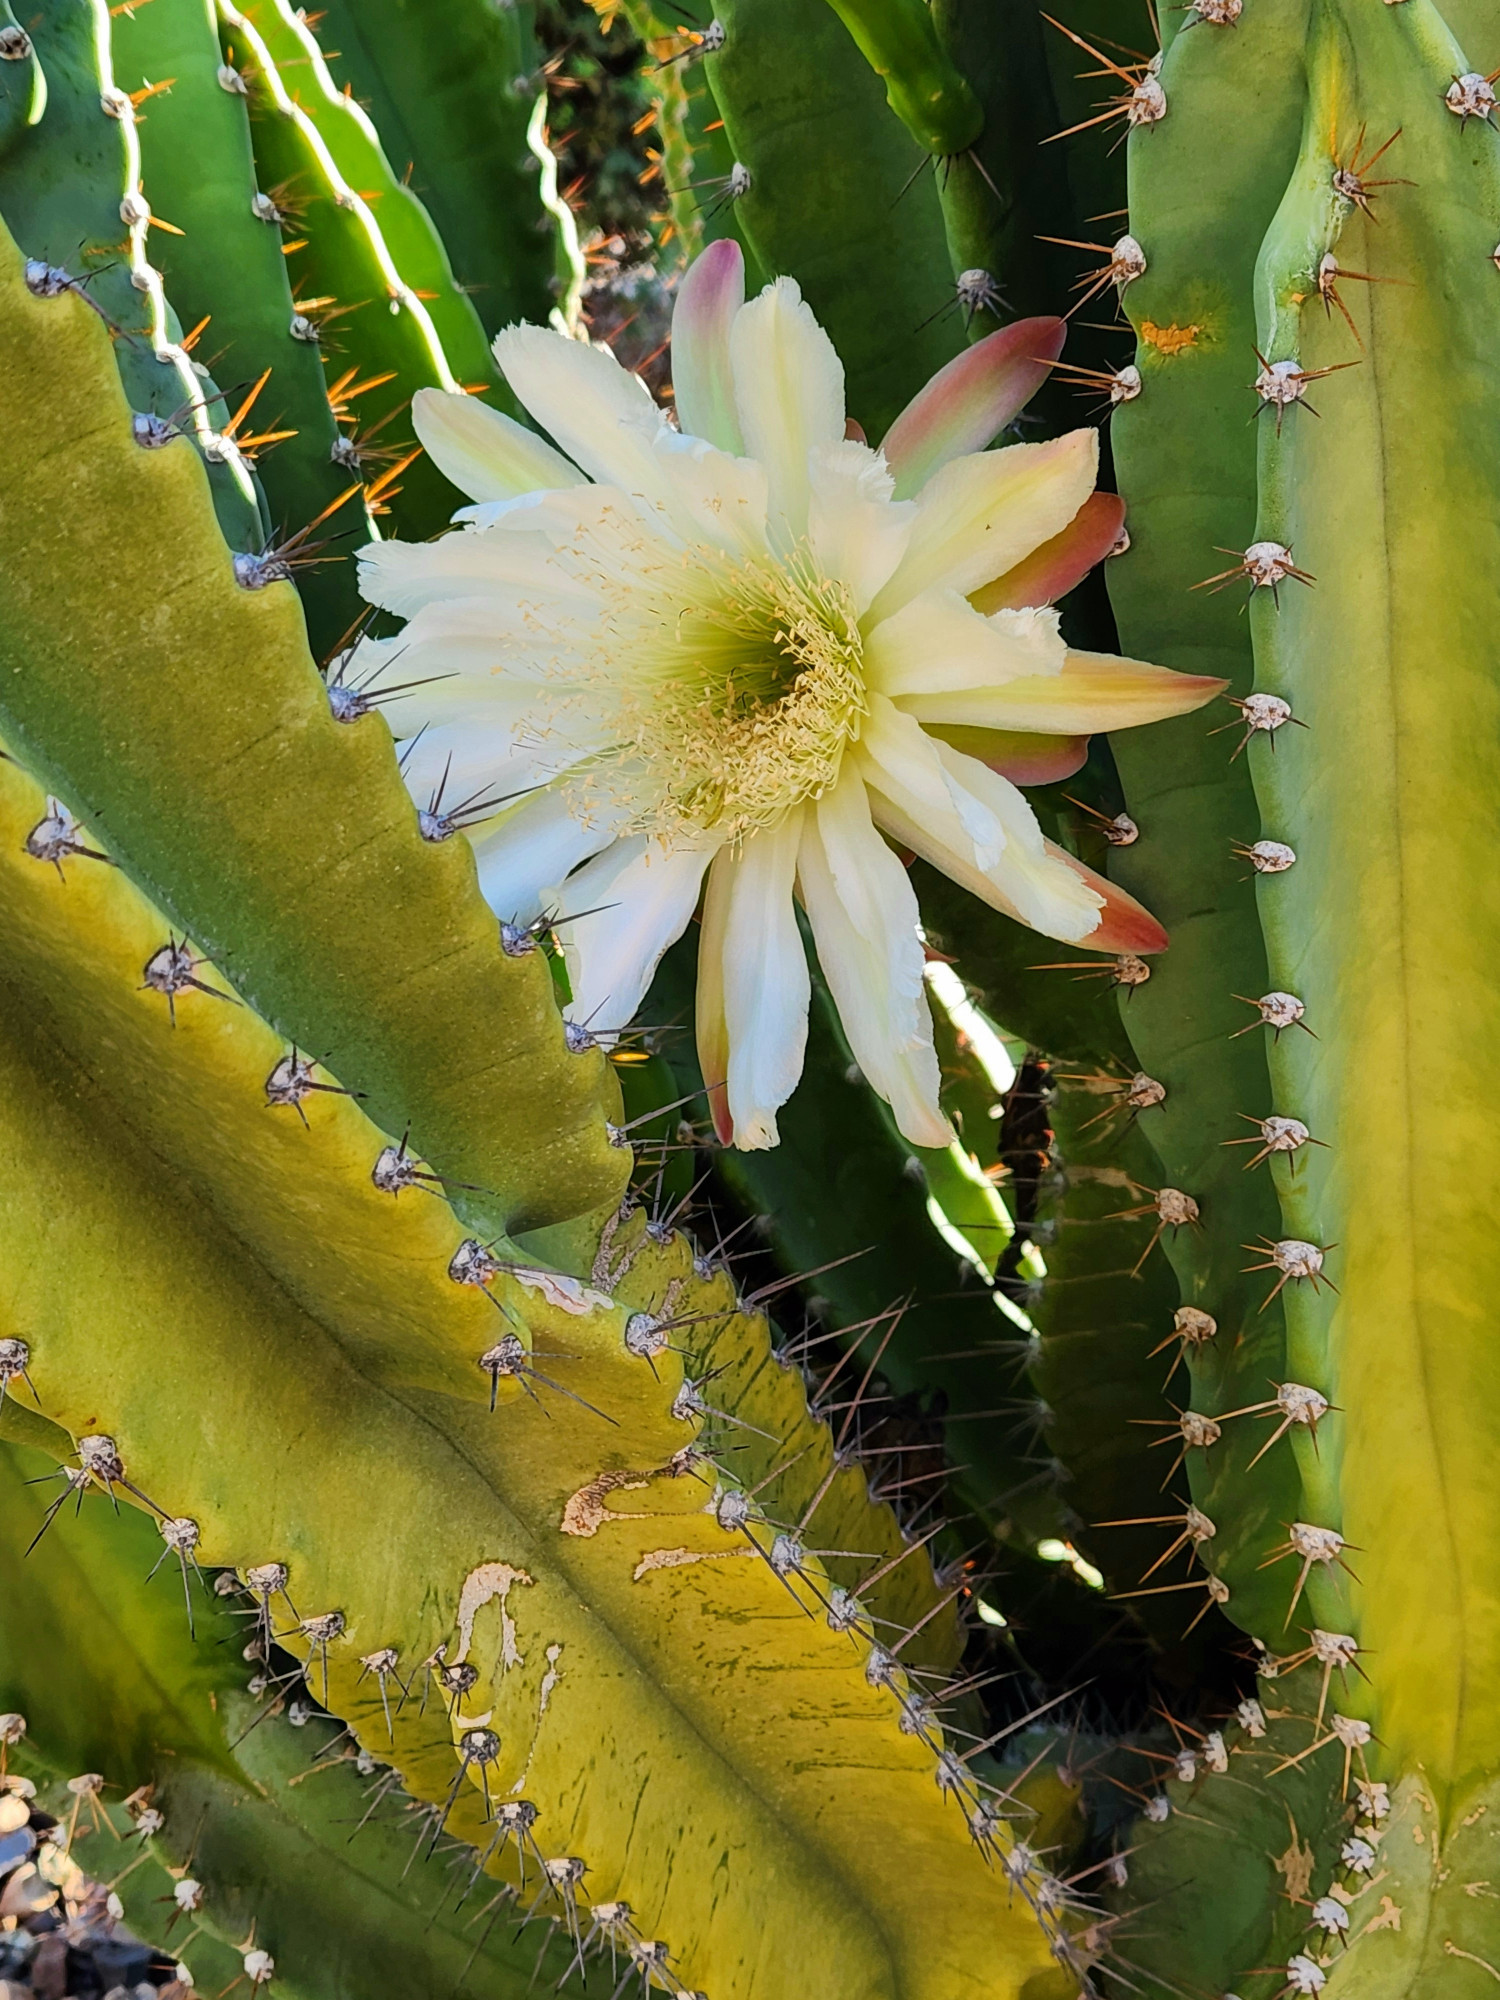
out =
{"type": "Polygon", "coordinates": [[[934,748],[952,784],[972,792],[1004,826],[1006,846],[1000,858],[982,868],[956,812],[946,818],[932,812],[924,798],[888,782],[884,770],[866,766],[876,824],[990,908],[1004,910],[1006,916],[1048,938],[1064,938],[1070,944],[1090,938],[1100,926],[1102,896],[1060,858],[1058,850],[1048,852],[1042,828],[1014,784],[976,764],[974,758],[950,750],[948,744],[934,748]]]}

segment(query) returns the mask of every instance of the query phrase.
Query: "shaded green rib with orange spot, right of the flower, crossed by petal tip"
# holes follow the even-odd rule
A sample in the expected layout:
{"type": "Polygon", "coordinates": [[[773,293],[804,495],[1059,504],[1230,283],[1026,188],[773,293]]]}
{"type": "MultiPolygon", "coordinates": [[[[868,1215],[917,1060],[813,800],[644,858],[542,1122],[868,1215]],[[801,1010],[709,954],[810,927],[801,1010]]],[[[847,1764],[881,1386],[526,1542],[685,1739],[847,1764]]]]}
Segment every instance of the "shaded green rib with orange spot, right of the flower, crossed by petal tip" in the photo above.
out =
{"type": "MultiPolygon", "coordinates": [[[[1112,418],[1114,460],[1132,546],[1108,566],[1110,598],[1128,652],[1168,666],[1222,674],[1230,696],[1250,692],[1244,592],[1194,588],[1234,564],[1216,550],[1254,540],[1256,370],[1254,250],[1280,200],[1300,136],[1306,8],[1266,0],[1238,24],[1178,32],[1162,64],[1166,116],[1130,140],[1130,226],[1146,272],[1124,292],[1138,332],[1142,394],[1112,418]],[[1292,88],[1288,88],[1288,80],[1292,88]],[[1228,152],[1230,120],[1238,142],[1228,152]],[[1204,158],[1216,160],[1204,174],[1204,158]],[[1224,228],[1224,204],[1236,212],[1224,228]]],[[[1122,1016],[1142,1070],[1166,1086],[1150,1140],[1162,1184],[1188,1194],[1196,1226],[1168,1226],[1166,1252],[1182,1302],[1218,1326],[1190,1364],[1192,1410],[1216,1416],[1264,1402],[1292,1372],[1280,1300],[1262,1258],[1244,1244],[1280,1236],[1274,1184],[1246,1172],[1248,1118],[1274,1110],[1254,1000],[1274,984],[1254,914],[1256,806],[1234,728],[1210,716],[1168,722],[1150,748],[1128,736],[1114,756],[1140,840],[1120,848],[1112,874],[1166,924],[1172,948],[1150,982],[1126,988],[1122,1016]],[[1240,852],[1236,852],[1236,848],[1240,852]],[[1244,996],[1236,998],[1236,996],[1244,996]],[[1250,1002],[1250,1004],[1246,1004],[1250,1002]],[[1252,1024],[1250,1034],[1238,1034],[1252,1024]]],[[[1140,1196],[1150,1202],[1150,1192],[1140,1196]]],[[[1142,1216],[1142,1240],[1156,1226],[1142,1216]]],[[[1178,1378],[1180,1380],[1180,1378],[1178,1378]]],[[[1186,1396],[1182,1398],[1186,1402],[1186,1396]]],[[[1194,1500],[1218,1524],[1214,1566],[1230,1588],[1226,1612],[1252,1632],[1280,1634],[1290,1588],[1284,1566],[1262,1568],[1298,1518],[1300,1482],[1282,1442],[1246,1468],[1264,1436],[1250,1420],[1188,1454],[1194,1500]]]]}

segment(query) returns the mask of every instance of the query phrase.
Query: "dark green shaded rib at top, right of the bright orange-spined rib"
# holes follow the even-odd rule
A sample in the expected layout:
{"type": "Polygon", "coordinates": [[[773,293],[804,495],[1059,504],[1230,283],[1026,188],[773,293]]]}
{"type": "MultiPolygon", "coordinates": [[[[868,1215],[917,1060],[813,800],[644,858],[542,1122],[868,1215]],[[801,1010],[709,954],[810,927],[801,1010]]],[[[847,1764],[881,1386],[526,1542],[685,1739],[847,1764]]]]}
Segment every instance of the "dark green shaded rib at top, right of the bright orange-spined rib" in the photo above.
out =
{"type": "MultiPolygon", "coordinates": [[[[530,10],[490,0],[444,0],[438,10],[420,0],[334,0],[318,10],[318,40],[330,72],[348,80],[374,122],[382,154],[432,216],[486,332],[546,322],[556,304],[556,218],[538,198],[530,10]]],[[[384,204],[380,222],[406,268],[384,204]]]]}

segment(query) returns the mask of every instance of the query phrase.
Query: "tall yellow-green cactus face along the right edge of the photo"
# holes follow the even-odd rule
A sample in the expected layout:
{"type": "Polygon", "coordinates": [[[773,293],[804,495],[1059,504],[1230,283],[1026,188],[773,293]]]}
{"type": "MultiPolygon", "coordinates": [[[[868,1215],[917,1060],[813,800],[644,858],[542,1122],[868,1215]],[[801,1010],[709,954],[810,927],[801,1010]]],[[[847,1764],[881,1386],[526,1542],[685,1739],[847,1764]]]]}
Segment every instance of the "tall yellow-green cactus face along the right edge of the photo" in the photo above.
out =
{"type": "Polygon", "coordinates": [[[1274,1108],[1322,1142],[1278,1172],[1280,1234],[1326,1260],[1286,1284],[1288,1370],[1338,1406],[1316,1456],[1298,1438],[1304,1518],[1360,1548],[1358,1584],[1316,1564],[1310,1606],[1352,1620],[1388,1772],[1420,1768],[1448,1828],[1500,1764],[1500,1152],[1474,1068],[1498,924],[1494,500],[1474,444],[1500,414],[1500,134],[1426,0],[1320,6],[1308,62],[1256,266],[1258,346],[1290,390],[1260,420],[1256,534],[1316,578],[1252,610],[1258,690],[1300,724],[1250,752],[1262,828],[1298,856],[1260,892],[1272,978],[1312,1030],[1270,1052],[1274,1108]]]}

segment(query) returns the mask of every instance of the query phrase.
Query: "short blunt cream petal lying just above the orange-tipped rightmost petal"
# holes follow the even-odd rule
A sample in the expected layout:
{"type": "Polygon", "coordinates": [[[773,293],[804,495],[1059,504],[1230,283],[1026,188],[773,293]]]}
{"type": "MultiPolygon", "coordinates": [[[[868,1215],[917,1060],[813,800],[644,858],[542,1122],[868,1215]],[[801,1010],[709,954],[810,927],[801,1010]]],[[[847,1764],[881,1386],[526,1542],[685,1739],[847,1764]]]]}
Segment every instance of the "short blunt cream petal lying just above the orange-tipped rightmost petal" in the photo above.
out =
{"type": "Polygon", "coordinates": [[[956,590],[924,590],[866,634],[864,674],[894,698],[1058,674],[1066,654],[1056,612],[984,618],[956,590]]]}

